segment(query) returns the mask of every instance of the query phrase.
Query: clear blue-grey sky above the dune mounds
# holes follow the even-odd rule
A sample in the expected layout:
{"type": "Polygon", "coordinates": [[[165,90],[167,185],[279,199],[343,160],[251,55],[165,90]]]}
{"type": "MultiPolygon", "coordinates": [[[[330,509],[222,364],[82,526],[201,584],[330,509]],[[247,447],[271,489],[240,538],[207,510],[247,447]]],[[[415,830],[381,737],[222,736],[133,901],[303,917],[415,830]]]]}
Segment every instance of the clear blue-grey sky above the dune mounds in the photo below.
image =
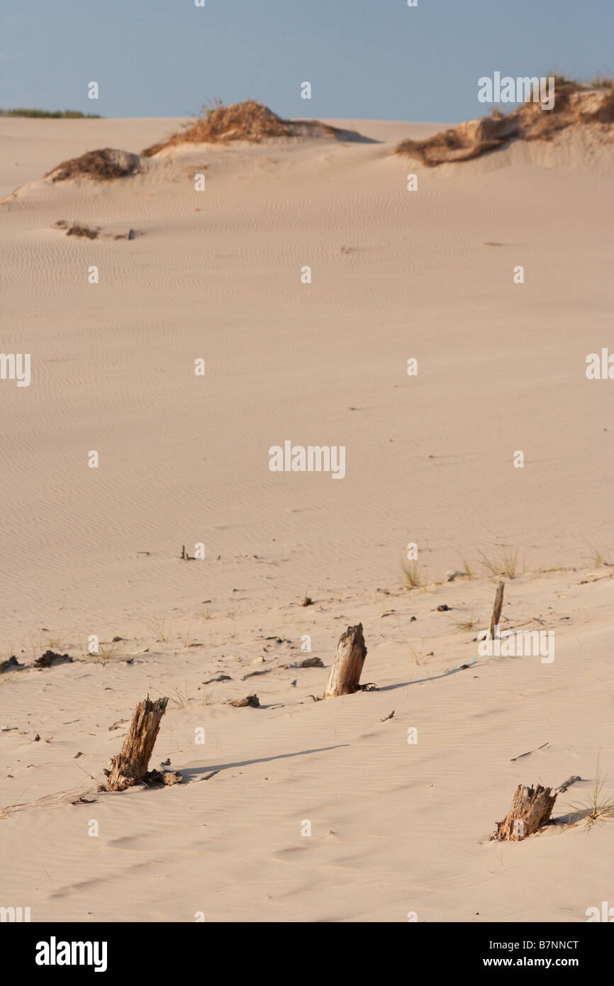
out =
{"type": "Polygon", "coordinates": [[[496,70],[612,74],[612,0],[205,2],[0,0],[0,107],[185,116],[219,97],[283,116],[456,122],[488,111],[477,80],[496,70]]]}

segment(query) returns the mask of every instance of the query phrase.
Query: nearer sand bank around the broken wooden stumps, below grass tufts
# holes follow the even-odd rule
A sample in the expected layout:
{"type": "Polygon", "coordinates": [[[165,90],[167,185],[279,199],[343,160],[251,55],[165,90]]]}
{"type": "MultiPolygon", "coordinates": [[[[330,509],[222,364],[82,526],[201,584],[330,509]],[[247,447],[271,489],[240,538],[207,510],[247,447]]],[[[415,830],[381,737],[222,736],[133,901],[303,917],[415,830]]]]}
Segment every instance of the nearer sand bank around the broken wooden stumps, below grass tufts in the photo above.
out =
{"type": "Polygon", "coordinates": [[[408,911],[420,921],[585,920],[608,899],[614,826],[489,841],[516,784],[580,775],[555,807],[564,819],[590,792],[597,750],[612,763],[612,580],[584,578],[508,585],[505,625],[553,629],[550,665],[477,656],[473,634],[455,627],[488,616],[492,587],[476,581],[308,609],[252,613],[240,600],[194,633],[200,647],[182,647],[171,626],[171,642],[150,640],[132,664],[126,655],[144,641],[124,641],[102,663],[12,672],[0,688],[13,775],[0,781],[0,804],[18,803],[2,845],[20,865],[3,867],[3,898],[31,906],[33,920],[190,921],[197,911],[208,921],[405,921],[408,911]],[[451,611],[437,611],[443,600],[451,611]],[[327,669],[284,666],[305,657],[305,633],[328,665],[358,619],[364,678],[380,690],[314,703],[327,669]],[[267,673],[241,680],[254,669],[267,673]],[[231,680],[205,684],[221,673],[231,680]],[[253,690],[259,709],[224,704],[253,690]],[[155,759],[170,759],[185,783],[96,794],[84,771],[103,780],[147,691],[172,696],[155,759]],[[80,795],[94,803],[71,805],[80,795]]]}

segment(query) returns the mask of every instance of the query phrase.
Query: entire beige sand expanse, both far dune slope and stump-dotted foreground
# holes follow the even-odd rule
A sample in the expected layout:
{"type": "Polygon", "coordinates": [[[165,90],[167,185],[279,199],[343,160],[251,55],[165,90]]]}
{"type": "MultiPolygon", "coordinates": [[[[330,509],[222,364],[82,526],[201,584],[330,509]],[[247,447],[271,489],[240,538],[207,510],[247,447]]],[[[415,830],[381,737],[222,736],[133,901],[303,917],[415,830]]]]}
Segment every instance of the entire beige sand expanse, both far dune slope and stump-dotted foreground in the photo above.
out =
{"type": "Polygon", "coordinates": [[[32,182],[0,206],[0,348],[33,359],[31,387],[0,382],[0,652],[126,638],[104,664],[2,676],[0,805],[87,788],[76,764],[100,773],[122,735],[108,727],[148,688],[179,689],[156,754],[199,782],[11,812],[2,846],[23,865],[3,894],[34,920],[129,920],[138,905],[147,920],[574,921],[607,898],[607,826],[485,840],[519,781],[591,779],[599,749],[614,776],[611,579],[512,582],[514,617],[554,621],[552,666],[493,660],[424,684],[475,647],[432,610],[486,619],[492,585],[384,605],[375,590],[395,591],[408,540],[431,577],[498,545],[527,570],[614,547],[614,385],[584,376],[611,342],[612,149],[566,134],[425,170],[389,152],[438,126],[343,125],[375,142],[203,148],[110,185],[53,185],[39,178],[60,161],[138,152],[176,121],[0,119],[0,193],[32,182]],[[142,235],[66,238],[59,219],[142,235]],[[285,439],[345,445],[346,478],[271,473],[285,439]],[[206,560],[179,561],[197,541],[206,560]],[[297,608],[307,592],[321,603],[297,608]],[[267,636],[296,660],[310,633],[328,665],[357,619],[367,679],[390,690],[313,704],[321,669],[237,681],[267,636]],[[407,647],[423,639],[426,669],[407,647]],[[205,686],[218,669],[233,681],[205,686]],[[220,704],[253,681],[265,708],[220,704]]]}

